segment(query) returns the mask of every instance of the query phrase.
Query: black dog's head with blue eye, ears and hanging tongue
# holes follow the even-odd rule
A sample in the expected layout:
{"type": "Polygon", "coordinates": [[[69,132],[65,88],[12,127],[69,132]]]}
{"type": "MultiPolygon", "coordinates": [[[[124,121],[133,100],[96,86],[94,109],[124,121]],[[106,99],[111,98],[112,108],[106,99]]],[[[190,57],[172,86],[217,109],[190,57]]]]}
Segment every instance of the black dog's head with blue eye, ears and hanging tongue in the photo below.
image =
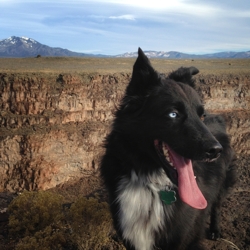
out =
{"type": "Polygon", "coordinates": [[[178,172],[182,200],[193,207],[204,208],[206,202],[194,187],[192,161],[215,161],[222,146],[203,122],[204,106],[192,79],[198,72],[195,67],[180,68],[163,77],[139,48],[131,81],[116,114],[115,129],[145,154],[154,147],[159,157],[165,155],[164,164],[169,169],[166,172],[173,182],[172,170],[178,172]],[[190,201],[187,196],[192,196],[191,193],[200,198],[190,201]]]}

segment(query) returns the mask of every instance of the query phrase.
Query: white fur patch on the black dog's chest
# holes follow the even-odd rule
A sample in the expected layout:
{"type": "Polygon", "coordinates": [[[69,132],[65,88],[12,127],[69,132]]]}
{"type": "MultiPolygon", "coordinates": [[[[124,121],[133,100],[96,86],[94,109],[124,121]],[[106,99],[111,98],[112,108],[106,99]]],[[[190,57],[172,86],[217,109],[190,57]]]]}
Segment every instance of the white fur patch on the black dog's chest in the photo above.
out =
{"type": "Polygon", "coordinates": [[[171,206],[166,207],[159,197],[159,191],[166,187],[173,187],[173,183],[163,170],[151,175],[137,175],[132,171],[130,177],[120,181],[117,190],[120,227],[123,238],[136,250],[152,250],[155,233],[163,229],[167,216],[172,214],[171,206]]]}

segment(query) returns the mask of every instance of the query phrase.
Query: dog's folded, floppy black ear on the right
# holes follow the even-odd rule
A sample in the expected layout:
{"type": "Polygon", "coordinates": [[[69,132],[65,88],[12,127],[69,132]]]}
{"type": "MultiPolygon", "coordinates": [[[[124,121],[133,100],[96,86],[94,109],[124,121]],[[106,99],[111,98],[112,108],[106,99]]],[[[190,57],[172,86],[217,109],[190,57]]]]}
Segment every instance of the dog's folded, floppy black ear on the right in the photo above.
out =
{"type": "Polygon", "coordinates": [[[176,71],[169,74],[169,78],[173,79],[177,82],[182,82],[190,85],[191,87],[195,87],[194,79],[192,78],[193,75],[199,73],[199,70],[195,67],[184,68],[181,67],[176,71]]]}

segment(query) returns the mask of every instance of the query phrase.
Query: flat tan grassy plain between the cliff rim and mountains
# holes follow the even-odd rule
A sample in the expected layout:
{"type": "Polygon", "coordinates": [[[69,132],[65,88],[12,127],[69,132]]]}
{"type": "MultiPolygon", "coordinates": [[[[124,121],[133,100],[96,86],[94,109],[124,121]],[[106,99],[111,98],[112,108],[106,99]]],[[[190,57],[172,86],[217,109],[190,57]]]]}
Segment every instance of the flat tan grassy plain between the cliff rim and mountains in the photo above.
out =
{"type": "MultiPolygon", "coordinates": [[[[136,58],[0,58],[1,72],[21,73],[131,73],[136,58]]],[[[250,59],[151,59],[155,69],[168,73],[181,66],[196,66],[202,74],[246,74],[250,59]]]]}

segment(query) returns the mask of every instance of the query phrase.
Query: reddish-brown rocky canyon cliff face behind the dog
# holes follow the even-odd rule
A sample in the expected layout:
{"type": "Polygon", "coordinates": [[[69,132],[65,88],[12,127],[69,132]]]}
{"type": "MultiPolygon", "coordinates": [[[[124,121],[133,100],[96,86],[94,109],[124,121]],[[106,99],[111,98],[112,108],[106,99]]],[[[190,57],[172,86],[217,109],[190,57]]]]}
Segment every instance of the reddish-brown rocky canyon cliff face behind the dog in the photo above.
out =
{"type": "MultiPolygon", "coordinates": [[[[48,189],[96,171],[129,74],[0,74],[0,191],[48,189]]],[[[200,75],[206,108],[222,113],[250,154],[250,75],[200,75]]]]}

